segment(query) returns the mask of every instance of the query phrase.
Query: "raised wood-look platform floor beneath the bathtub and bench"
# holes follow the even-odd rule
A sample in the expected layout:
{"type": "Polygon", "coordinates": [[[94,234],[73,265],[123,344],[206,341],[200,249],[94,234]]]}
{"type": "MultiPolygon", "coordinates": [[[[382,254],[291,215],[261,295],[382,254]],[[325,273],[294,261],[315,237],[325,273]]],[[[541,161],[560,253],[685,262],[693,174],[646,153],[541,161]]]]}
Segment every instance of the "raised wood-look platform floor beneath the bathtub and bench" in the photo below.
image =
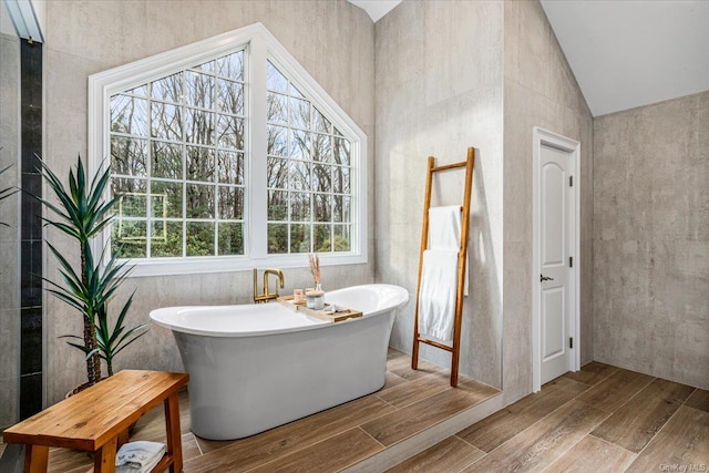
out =
{"type": "MultiPolygon", "coordinates": [[[[182,392],[184,471],[336,472],[500,394],[464,377],[453,389],[450,371],[425,361],[414,371],[411,357],[397,350],[389,350],[387,369],[380,391],[236,441],[195,436],[189,431],[188,393],[182,392]]],[[[165,441],[162,408],[138,421],[131,440],[165,441]]],[[[50,472],[85,473],[91,465],[86,453],[50,450],[50,472]]]]}

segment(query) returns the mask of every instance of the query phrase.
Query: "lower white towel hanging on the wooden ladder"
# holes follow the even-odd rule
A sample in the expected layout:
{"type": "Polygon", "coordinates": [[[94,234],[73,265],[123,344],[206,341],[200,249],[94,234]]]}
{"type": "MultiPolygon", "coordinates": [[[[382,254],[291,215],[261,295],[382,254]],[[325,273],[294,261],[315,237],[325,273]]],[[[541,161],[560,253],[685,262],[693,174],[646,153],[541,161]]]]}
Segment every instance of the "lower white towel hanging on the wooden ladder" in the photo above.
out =
{"type": "Polygon", "coordinates": [[[458,249],[423,251],[419,296],[419,333],[451,341],[458,291],[458,249]]]}

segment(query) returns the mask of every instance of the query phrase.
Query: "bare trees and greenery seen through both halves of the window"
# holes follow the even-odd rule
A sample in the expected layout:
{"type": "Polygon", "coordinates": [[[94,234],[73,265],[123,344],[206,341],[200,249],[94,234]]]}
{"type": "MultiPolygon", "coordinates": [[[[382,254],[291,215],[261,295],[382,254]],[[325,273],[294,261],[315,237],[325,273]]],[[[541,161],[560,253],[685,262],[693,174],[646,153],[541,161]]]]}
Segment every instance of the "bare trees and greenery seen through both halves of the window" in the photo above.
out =
{"type": "Polygon", "coordinates": [[[267,156],[247,157],[245,51],[111,96],[113,249],[245,255],[247,160],[266,160],[267,250],[352,250],[352,143],[267,62],[267,156]]]}

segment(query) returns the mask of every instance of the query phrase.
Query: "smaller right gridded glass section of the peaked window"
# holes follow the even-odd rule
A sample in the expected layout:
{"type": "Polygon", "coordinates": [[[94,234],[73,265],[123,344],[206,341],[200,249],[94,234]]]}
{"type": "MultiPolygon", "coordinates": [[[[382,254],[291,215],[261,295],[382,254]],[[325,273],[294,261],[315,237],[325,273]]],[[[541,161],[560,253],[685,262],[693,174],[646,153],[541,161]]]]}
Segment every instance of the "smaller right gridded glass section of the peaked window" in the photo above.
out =
{"type": "Polygon", "coordinates": [[[268,253],[351,251],[350,141],[270,61],[266,102],[268,253]]]}

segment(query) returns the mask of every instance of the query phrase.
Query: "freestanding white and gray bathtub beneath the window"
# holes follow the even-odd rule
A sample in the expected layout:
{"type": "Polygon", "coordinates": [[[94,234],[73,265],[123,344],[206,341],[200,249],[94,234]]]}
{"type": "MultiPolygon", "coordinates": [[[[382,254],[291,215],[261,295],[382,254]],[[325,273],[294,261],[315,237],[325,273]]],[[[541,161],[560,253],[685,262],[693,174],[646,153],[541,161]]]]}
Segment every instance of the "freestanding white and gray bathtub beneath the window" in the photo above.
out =
{"type": "Polygon", "coordinates": [[[374,392],[384,384],[394,311],[405,289],[364,285],[326,292],[361,310],[329,322],[279,302],[153,310],[189,373],[192,431],[242,439],[374,392]]]}

